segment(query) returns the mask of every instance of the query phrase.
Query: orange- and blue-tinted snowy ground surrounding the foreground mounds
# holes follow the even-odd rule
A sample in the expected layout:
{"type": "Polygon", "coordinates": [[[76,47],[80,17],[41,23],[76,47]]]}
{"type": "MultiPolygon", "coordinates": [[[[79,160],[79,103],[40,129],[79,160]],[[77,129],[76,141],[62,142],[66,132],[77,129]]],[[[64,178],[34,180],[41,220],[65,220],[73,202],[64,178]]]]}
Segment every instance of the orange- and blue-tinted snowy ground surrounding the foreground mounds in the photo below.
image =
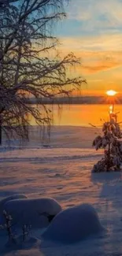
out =
{"type": "Polygon", "coordinates": [[[87,135],[87,128],[58,128],[55,132],[52,148],[41,148],[39,141],[22,150],[1,147],[0,199],[15,194],[51,197],[63,210],[90,203],[106,232],[67,245],[42,239],[43,229],[32,229],[35,243],[28,241],[20,250],[18,246],[6,248],[6,232],[0,231],[0,256],[121,256],[121,173],[91,173],[102,151],[91,148],[92,136],[91,132],[87,135]]]}

